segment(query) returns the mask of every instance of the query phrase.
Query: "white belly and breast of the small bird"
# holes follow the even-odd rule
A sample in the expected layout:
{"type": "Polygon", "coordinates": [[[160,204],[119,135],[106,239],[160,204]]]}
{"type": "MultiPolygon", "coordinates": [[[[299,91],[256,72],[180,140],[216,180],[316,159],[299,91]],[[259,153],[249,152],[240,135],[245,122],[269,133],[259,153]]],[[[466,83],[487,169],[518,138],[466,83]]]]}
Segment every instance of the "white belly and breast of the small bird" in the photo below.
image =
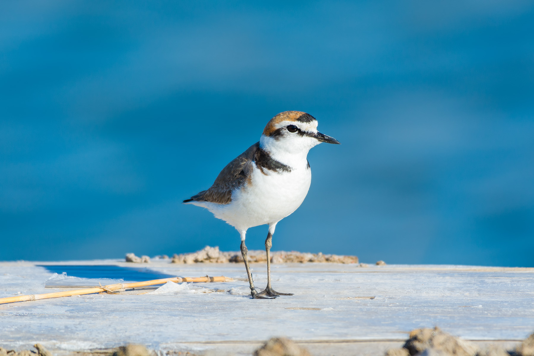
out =
{"type": "Polygon", "coordinates": [[[308,194],[311,170],[305,165],[291,172],[277,173],[254,167],[250,185],[232,194],[230,204],[204,206],[238,230],[276,223],[300,207],[308,194]]]}

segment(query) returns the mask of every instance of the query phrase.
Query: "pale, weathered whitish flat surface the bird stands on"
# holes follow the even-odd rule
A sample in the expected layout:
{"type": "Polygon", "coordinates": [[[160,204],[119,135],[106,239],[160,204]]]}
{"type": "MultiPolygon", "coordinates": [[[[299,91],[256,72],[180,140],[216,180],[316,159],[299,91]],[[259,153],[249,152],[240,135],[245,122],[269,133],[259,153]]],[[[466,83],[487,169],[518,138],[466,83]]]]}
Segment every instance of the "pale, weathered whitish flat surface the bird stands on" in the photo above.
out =
{"type": "MultiPolygon", "coordinates": [[[[66,290],[45,288],[53,274],[46,265],[147,267],[235,280],[195,283],[172,295],[138,294],[145,289],[0,305],[0,346],[21,350],[40,342],[66,354],[141,343],[160,351],[249,354],[272,336],[287,336],[315,355],[382,354],[420,327],[507,345],[534,331],[534,268],[276,264],[273,288],[295,295],[253,300],[245,295],[242,264],[1,262],[0,297],[66,290]]],[[[263,289],[266,266],[252,268],[263,289]]]]}

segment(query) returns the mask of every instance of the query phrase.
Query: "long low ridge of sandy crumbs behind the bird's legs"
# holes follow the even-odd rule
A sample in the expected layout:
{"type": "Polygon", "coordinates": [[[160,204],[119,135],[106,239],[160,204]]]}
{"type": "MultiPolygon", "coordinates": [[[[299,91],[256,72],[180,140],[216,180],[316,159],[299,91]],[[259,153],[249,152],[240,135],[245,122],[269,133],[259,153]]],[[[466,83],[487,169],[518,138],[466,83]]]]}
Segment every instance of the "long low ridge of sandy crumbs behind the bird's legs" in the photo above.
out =
{"type": "MultiPolygon", "coordinates": [[[[248,260],[250,263],[267,262],[267,257],[264,250],[248,250],[248,260]]],[[[206,246],[200,251],[191,254],[175,254],[172,256],[172,263],[240,263],[243,262],[241,252],[219,251],[219,247],[206,246]]],[[[340,255],[323,255],[310,254],[309,252],[296,251],[271,251],[272,263],[313,263],[313,262],[329,262],[329,263],[358,263],[356,256],[340,256],[340,255]]]]}

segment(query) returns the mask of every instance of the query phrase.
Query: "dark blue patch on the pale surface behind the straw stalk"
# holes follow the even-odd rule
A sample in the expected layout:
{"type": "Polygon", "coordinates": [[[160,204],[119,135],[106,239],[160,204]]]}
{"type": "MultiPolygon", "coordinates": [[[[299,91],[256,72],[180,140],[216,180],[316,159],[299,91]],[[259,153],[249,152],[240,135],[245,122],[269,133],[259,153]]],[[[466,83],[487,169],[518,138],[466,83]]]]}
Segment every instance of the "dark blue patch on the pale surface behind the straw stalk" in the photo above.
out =
{"type": "Polygon", "coordinates": [[[160,278],[172,278],[175,275],[153,271],[147,267],[121,267],[114,265],[38,265],[50,272],[68,276],[91,279],[122,279],[124,281],[140,282],[160,278]]]}

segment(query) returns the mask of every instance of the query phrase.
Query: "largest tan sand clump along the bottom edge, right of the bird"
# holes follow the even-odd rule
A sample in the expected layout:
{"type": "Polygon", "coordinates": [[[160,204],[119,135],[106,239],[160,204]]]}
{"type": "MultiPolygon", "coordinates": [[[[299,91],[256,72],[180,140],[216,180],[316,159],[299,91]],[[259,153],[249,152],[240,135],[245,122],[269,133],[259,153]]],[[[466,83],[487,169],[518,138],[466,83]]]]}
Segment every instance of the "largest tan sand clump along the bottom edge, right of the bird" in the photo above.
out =
{"type": "Polygon", "coordinates": [[[474,356],[478,351],[475,345],[444,333],[438,327],[412,330],[410,339],[406,341],[404,348],[412,356],[427,349],[434,349],[433,352],[444,352],[454,356],[474,356]]]}

